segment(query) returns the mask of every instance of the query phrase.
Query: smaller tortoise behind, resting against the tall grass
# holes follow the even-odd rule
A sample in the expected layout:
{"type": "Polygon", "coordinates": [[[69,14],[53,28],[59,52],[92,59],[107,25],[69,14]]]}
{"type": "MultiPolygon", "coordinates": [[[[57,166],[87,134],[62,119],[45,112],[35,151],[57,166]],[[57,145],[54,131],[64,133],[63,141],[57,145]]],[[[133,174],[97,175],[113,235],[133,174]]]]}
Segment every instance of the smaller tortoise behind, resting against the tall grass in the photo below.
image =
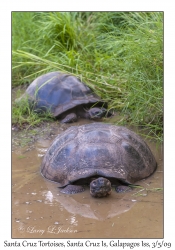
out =
{"type": "Polygon", "coordinates": [[[78,117],[92,119],[109,116],[107,104],[92,90],[72,75],[51,72],[36,78],[27,88],[34,110],[49,110],[63,123],[74,122],[78,117]]]}

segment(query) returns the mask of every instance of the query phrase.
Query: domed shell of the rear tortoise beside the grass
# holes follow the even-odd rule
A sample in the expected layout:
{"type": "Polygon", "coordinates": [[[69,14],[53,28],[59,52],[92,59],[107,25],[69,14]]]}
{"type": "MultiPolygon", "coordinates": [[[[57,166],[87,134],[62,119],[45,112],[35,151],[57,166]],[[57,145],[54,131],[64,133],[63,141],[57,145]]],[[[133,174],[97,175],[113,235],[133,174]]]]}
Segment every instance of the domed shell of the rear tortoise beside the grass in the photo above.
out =
{"type": "Polygon", "coordinates": [[[78,105],[107,107],[92,90],[72,75],[51,72],[36,78],[27,88],[29,100],[37,111],[49,110],[57,117],[78,105]]]}

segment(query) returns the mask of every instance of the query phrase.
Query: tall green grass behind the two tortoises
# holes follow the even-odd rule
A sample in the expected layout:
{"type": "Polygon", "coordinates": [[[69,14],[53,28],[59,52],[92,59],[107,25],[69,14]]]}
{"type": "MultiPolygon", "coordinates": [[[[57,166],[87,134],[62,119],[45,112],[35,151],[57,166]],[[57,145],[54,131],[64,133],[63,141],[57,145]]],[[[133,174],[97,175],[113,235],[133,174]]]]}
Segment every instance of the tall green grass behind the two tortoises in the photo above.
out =
{"type": "Polygon", "coordinates": [[[122,125],[162,140],[162,12],[16,12],[12,49],[13,86],[49,71],[74,74],[122,125]]]}

